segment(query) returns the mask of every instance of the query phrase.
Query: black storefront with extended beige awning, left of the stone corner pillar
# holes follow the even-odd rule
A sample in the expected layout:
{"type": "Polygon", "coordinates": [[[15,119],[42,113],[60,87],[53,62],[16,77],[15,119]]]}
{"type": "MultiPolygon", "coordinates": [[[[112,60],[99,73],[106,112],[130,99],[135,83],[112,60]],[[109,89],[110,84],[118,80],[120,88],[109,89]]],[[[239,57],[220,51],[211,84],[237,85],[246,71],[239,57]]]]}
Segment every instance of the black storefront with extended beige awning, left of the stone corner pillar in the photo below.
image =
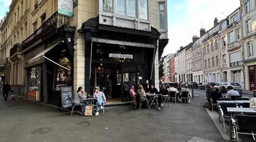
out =
{"type": "Polygon", "coordinates": [[[73,86],[75,27],[69,17],[54,13],[22,42],[26,96],[38,93],[38,101],[58,104],[60,86],[73,86]]]}

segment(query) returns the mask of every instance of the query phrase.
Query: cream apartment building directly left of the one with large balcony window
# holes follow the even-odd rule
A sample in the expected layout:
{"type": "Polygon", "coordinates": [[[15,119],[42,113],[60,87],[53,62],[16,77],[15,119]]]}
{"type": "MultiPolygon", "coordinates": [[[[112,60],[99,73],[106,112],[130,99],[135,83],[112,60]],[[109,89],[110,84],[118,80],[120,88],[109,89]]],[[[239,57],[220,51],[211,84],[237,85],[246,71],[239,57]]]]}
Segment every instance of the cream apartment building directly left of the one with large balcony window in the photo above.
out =
{"type": "MultiPolygon", "coordinates": [[[[221,21],[222,22],[222,21],[221,21]]],[[[209,29],[204,35],[202,49],[203,49],[203,63],[205,82],[221,82],[220,72],[220,48],[219,48],[219,23],[218,19],[214,19],[214,26],[209,29]]],[[[225,40],[225,39],[223,39],[225,40]]]]}

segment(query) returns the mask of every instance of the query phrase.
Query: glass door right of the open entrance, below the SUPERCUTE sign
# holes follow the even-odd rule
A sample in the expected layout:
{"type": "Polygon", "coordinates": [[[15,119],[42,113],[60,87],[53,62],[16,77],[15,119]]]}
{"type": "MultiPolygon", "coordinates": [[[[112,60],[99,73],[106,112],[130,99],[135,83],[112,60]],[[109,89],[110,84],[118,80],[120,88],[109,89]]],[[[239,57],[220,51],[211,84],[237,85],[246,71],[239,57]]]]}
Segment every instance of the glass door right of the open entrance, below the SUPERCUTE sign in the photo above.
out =
{"type": "Polygon", "coordinates": [[[136,81],[136,65],[123,65],[123,70],[122,70],[122,75],[123,75],[123,96],[122,96],[122,101],[129,101],[131,100],[130,98],[130,93],[129,89],[131,86],[135,87],[135,81],[136,81]]]}

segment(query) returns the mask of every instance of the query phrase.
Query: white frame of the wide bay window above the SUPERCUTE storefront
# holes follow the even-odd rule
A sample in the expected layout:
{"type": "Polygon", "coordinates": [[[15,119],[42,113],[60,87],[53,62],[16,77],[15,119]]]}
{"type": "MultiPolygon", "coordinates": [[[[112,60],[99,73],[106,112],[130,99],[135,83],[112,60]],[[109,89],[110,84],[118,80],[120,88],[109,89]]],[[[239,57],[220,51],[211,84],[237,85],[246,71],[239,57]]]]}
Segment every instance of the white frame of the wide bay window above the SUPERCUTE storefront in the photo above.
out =
{"type": "MultiPolygon", "coordinates": [[[[127,16],[127,15],[122,15],[122,14],[117,14],[116,13],[116,9],[117,9],[117,0],[113,0],[113,13],[108,13],[108,12],[103,12],[103,0],[99,0],[99,12],[101,15],[106,15],[109,17],[119,17],[119,18],[123,18],[123,19],[127,19],[127,20],[136,20],[136,21],[141,21],[141,22],[146,22],[149,23],[149,21],[151,21],[150,19],[150,13],[151,13],[151,0],[147,0],[147,20],[145,19],[140,19],[140,13],[139,13],[139,7],[140,7],[140,3],[138,2],[139,0],[136,0],[136,17],[131,17],[131,16],[127,16]]],[[[127,2],[126,2],[127,3],[127,2]]],[[[127,8],[126,8],[127,9],[127,8]]]]}

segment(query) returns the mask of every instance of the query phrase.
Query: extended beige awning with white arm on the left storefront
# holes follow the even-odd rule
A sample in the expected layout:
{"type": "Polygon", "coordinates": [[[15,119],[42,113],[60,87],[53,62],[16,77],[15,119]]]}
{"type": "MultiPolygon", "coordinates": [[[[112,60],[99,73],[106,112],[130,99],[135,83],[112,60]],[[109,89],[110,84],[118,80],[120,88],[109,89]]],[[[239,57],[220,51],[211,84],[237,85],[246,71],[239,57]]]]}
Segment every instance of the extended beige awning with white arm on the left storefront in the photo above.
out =
{"type": "MultiPolygon", "coordinates": [[[[61,42],[61,41],[58,41],[57,43],[51,45],[49,48],[47,48],[47,49],[43,50],[42,52],[40,52],[39,54],[37,54],[34,58],[32,58],[32,59],[30,59],[30,60],[28,61],[28,64],[33,64],[33,63],[35,63],[36,61],[38,61],[38,60],[40,60],[40,59],[42,59],[42,58],[45,58],[45,59],[47,59],[47,60],[53,62],[54,64],[59,65],[59,64],[57,64],[56,62],[54,62],[53,60],[51,60],[51,59],[45,57],[44,54],[45,54],[46,52],[50,51],[51,49],[53,49],[53,48],[54,48],[57,44],[59,44],[60,42],[61,42]]],[[[66,68],[66,67],[64,67],[64,66],[62,66],[62,65],[59,65],[59,66],[65,68],[65,69],[67,69],[67,70],[70,70],[70,69],[68,69],[68,68],[66,68]]]]}

